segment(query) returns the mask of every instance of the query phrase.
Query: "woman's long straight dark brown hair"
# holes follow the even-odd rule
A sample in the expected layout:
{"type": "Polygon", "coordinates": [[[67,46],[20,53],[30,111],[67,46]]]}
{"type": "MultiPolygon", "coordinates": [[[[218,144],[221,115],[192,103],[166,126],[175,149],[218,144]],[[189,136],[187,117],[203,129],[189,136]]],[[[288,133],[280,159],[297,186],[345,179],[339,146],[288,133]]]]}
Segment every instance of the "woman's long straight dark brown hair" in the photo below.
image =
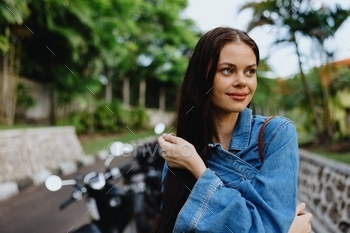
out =
{"type": "MultiPolygon", "coordinates": [[[[221,49],[234,41],[242,41],[251,47],[258,65],[258,46],[246,32],[230,27],[215,28],[198,41],[176,101],[177,136],[192,143],[205,164],[209,154],[207,145],[214,134],[210,90],[213,88],[221,49]]],[[[173,231],[176,217],[196,182],[188,170],[170,169],[164,179],[160,215],[151,231],[154,233],[173,231]]]]}

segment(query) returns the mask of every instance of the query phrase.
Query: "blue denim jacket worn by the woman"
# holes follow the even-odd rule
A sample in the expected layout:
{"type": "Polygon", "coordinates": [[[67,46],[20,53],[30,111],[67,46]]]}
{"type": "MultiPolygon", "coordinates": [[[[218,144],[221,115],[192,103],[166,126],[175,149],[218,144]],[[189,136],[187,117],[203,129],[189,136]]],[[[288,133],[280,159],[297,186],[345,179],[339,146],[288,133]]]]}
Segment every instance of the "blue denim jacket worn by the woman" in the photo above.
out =
{"type": "MultiPolygon", "coordinates": [[[[209,144],[208,169],[180,210],[173,232],[287,233],[295,217],[299,154],[296,129],[274,117],[258,137],[266,117],[239,114],[229,151],[209,144]]],[[[164,166],[164,175],[167,173],[164,166]]]]}

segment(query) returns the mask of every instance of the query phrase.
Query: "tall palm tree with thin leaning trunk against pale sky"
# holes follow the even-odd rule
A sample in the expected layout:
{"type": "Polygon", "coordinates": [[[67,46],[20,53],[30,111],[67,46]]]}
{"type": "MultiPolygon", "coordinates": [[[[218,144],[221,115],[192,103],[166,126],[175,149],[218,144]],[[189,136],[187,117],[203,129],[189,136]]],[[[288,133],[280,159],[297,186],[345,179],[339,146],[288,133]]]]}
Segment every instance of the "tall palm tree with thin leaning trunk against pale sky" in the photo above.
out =
{"type": "MultiPolygon", "coordinates": [[[[315,125],[317,140],[322,140],[323,130],[321,118],[318,117],[315,98],[310,90],[310,85],[306,79],[303,69],[302,55],[299,48],[301,37],[316,37],[324,39],[335,32],[344,20],[348,17],[349,11],[337,6],[334,10],[322,6],[320,9],[313,9],[311,0],[267,0],[262,2],[249,2],[241,7],[241,10],[252,9],[253,19],[249,23],[248,31],[262,25],[271,25],[281,30],[275,40],[275,45],[288,43],[294,46],[298,58],[299,73],[304,88],[305,96],[308,99],[315,125]],[[327,10],[326,10],[327,9],[327,10]],[[337,16],[340,15],[340,16],[337,16]],[[331,30],[328,20],[333,20],[334,25],[331,30]],[[283,33],[287,29],[287,33],[283,33]],[[329,29],[326,31],[325,29],[329,29]],[[320,33],[321,32],[321,33],[320,33]]],[[[325,50],[324,50],[325,51],[325,50]]],[[[325,99],[324,102],[327,100],[325,99]]],[[[328,114],[328,113],[325,113],[328,114]]]]}

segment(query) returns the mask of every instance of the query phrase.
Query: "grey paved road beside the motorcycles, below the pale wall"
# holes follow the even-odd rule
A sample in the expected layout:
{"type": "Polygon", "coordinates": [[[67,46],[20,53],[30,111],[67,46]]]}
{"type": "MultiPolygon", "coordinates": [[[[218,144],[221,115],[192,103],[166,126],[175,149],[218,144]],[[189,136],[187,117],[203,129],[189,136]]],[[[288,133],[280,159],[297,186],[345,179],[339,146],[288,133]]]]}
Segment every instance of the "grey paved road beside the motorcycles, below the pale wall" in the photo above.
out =
{"type": "MultiPolygon", "coordinates": [[[[122,166],[130,159],[116,158],[113,166],[122,166]]],[[[91,171],[104,172],[103,161],[80,169],[86,174],[91,171]]],[[[75,174],[62,177],[71,179],[75,174]]],[[[61,202],[70,197],[72,187],[65,186],[57,192],[50,192],[44,184],[31,186],[18,195],[0,202],[0,232],[2,233],[47,233],[69,232],[89,222],[84,202],[73,203],[60,211],[61,202]]],[[[132,233],[132,231],[128,231],[132,233]]]]}

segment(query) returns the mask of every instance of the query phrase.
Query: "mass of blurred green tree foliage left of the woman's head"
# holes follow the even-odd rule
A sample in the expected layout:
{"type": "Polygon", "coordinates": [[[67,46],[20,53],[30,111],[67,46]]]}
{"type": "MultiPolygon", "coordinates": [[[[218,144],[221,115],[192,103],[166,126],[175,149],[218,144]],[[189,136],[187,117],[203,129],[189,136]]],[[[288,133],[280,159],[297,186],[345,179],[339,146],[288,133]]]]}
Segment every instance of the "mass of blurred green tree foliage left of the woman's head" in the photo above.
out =
{"type": "Polygon", "coordinates": [[[100,77],[114,84],[152,79],[175,89],[201,33],[181,17],[187,0],[0,3],[0,51],[13,48],[19,75],[48,84],[53,123],[57,107],[78,96],[91,90],[103,98],[100,77]]]}

